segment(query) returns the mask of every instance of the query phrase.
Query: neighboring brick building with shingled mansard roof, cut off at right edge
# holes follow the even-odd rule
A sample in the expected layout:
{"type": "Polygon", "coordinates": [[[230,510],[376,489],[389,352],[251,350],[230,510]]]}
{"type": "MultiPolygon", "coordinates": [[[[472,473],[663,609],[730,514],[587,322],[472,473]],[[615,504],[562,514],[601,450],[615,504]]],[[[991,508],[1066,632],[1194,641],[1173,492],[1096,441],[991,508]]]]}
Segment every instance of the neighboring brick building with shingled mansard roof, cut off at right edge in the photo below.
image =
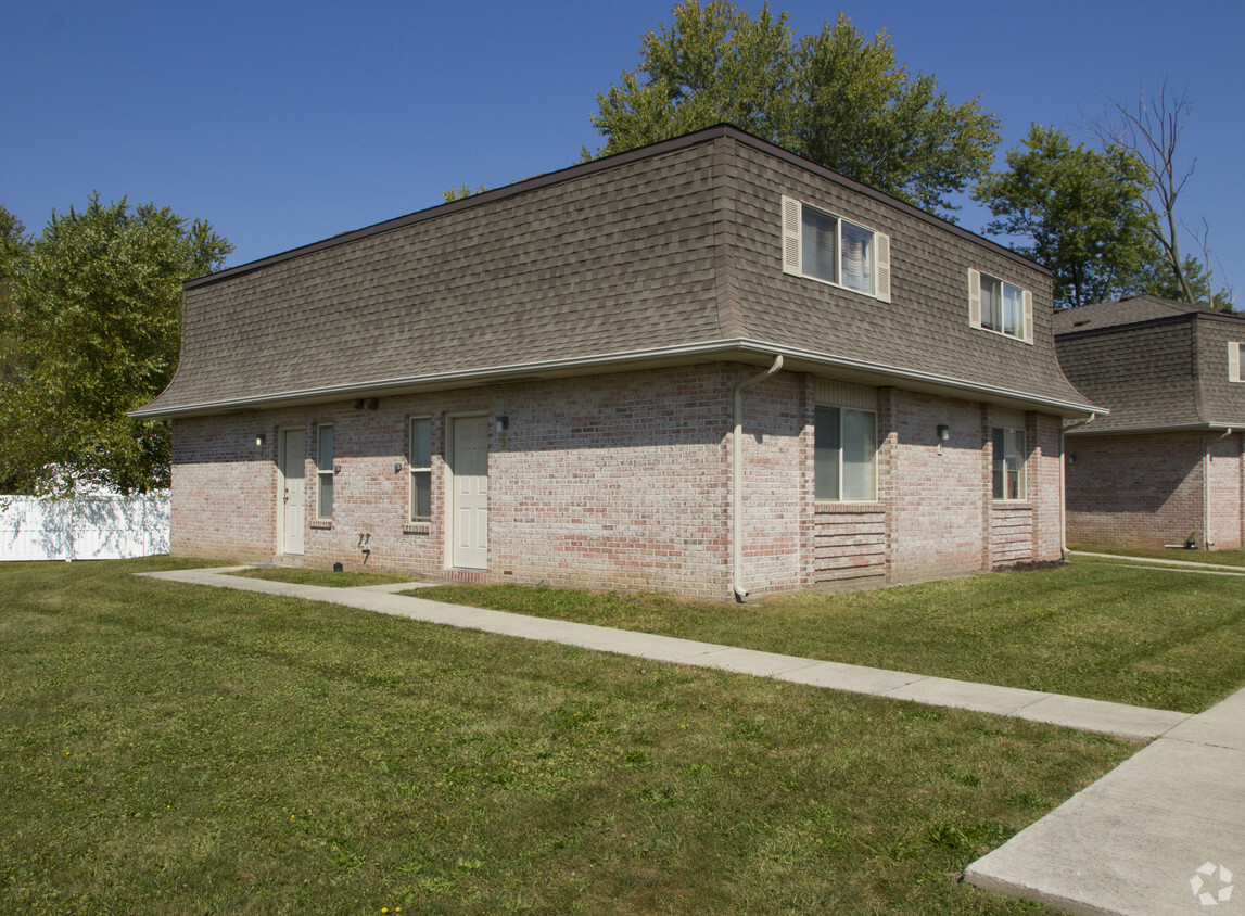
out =
{"type": "Polygon", "coordinates": [[[1137,296],[1058,312],[1055,334],[1068,378],[1111,409],[1066,436],[1068,540],[1245,544],[1245,319],[1137,296]]]}

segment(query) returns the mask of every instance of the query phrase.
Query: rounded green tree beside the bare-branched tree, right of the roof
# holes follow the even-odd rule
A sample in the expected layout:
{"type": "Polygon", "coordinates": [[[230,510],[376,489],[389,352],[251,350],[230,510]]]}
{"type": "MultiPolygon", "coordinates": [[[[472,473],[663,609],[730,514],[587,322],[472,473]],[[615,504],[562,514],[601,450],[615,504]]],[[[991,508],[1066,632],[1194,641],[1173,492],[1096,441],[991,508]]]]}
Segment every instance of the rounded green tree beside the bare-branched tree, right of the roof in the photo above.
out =
{"type": "Polygon", "coordinates": [[[1008,151],[1007,168],[974,190],[995,217],[991,235],[1055,273],[1055,301],[1086,305],[1138,291],[1153,253],[1145,166],[1130,152],[1072,146],[1067,134],[1033,124],[1008,151]]]}

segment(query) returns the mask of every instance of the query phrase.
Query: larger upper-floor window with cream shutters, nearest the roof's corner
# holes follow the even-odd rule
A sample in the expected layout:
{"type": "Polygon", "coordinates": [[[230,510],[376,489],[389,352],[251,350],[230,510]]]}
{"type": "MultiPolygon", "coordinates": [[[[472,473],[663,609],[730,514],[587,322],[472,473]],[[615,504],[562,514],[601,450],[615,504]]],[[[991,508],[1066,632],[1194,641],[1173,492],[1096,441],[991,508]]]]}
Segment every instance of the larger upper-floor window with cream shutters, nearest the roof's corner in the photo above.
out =
{"type": "Polygon", "coordinates": [[[890,238],[784,197],[783,271],[890,301],[890,238]]]}

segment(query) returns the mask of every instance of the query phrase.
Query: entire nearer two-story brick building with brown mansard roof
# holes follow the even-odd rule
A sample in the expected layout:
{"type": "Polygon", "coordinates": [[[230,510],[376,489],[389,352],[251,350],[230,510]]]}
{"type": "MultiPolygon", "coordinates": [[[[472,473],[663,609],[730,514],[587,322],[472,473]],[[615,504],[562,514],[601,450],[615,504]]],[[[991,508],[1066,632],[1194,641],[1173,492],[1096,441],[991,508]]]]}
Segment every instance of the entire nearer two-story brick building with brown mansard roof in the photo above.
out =
{"type": "Polygon", "coordinates": [[[1061,558],[1059,427],[1099,408],[1051,315],[1031,261],[715,127],[188,283],[136,416],[181,555],[910,581],[1061,558]]]}

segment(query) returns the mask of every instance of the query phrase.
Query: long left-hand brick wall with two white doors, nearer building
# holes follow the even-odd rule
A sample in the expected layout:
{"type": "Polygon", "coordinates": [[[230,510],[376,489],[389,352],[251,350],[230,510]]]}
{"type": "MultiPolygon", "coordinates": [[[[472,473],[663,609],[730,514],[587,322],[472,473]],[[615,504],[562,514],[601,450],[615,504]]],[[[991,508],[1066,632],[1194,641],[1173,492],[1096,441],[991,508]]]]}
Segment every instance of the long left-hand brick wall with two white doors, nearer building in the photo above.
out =
{"type": "Polygon", "coordinates": [[[178,421],[173,551],[276,558],[278,429],[306,428],[310,520],[315,426],[332,423],[341,473],[331,526],[309,521],[304,555],[283,561],[361,569],[366,531],[369,569],[438,575],[447,417],[488,412],[489,577],[723,596],[731,382],[722,368],[698,367],[388,397],[375,411],[336,402],[245,421],[178,421]],[[406,524],[411,416],[432,417],[432,523],[425,525],[406,524]],[[508,417],[504,432],[496,428],[499,416],[508,417]],[[260,432],[263,454],[254,446],[260,432]]]}

